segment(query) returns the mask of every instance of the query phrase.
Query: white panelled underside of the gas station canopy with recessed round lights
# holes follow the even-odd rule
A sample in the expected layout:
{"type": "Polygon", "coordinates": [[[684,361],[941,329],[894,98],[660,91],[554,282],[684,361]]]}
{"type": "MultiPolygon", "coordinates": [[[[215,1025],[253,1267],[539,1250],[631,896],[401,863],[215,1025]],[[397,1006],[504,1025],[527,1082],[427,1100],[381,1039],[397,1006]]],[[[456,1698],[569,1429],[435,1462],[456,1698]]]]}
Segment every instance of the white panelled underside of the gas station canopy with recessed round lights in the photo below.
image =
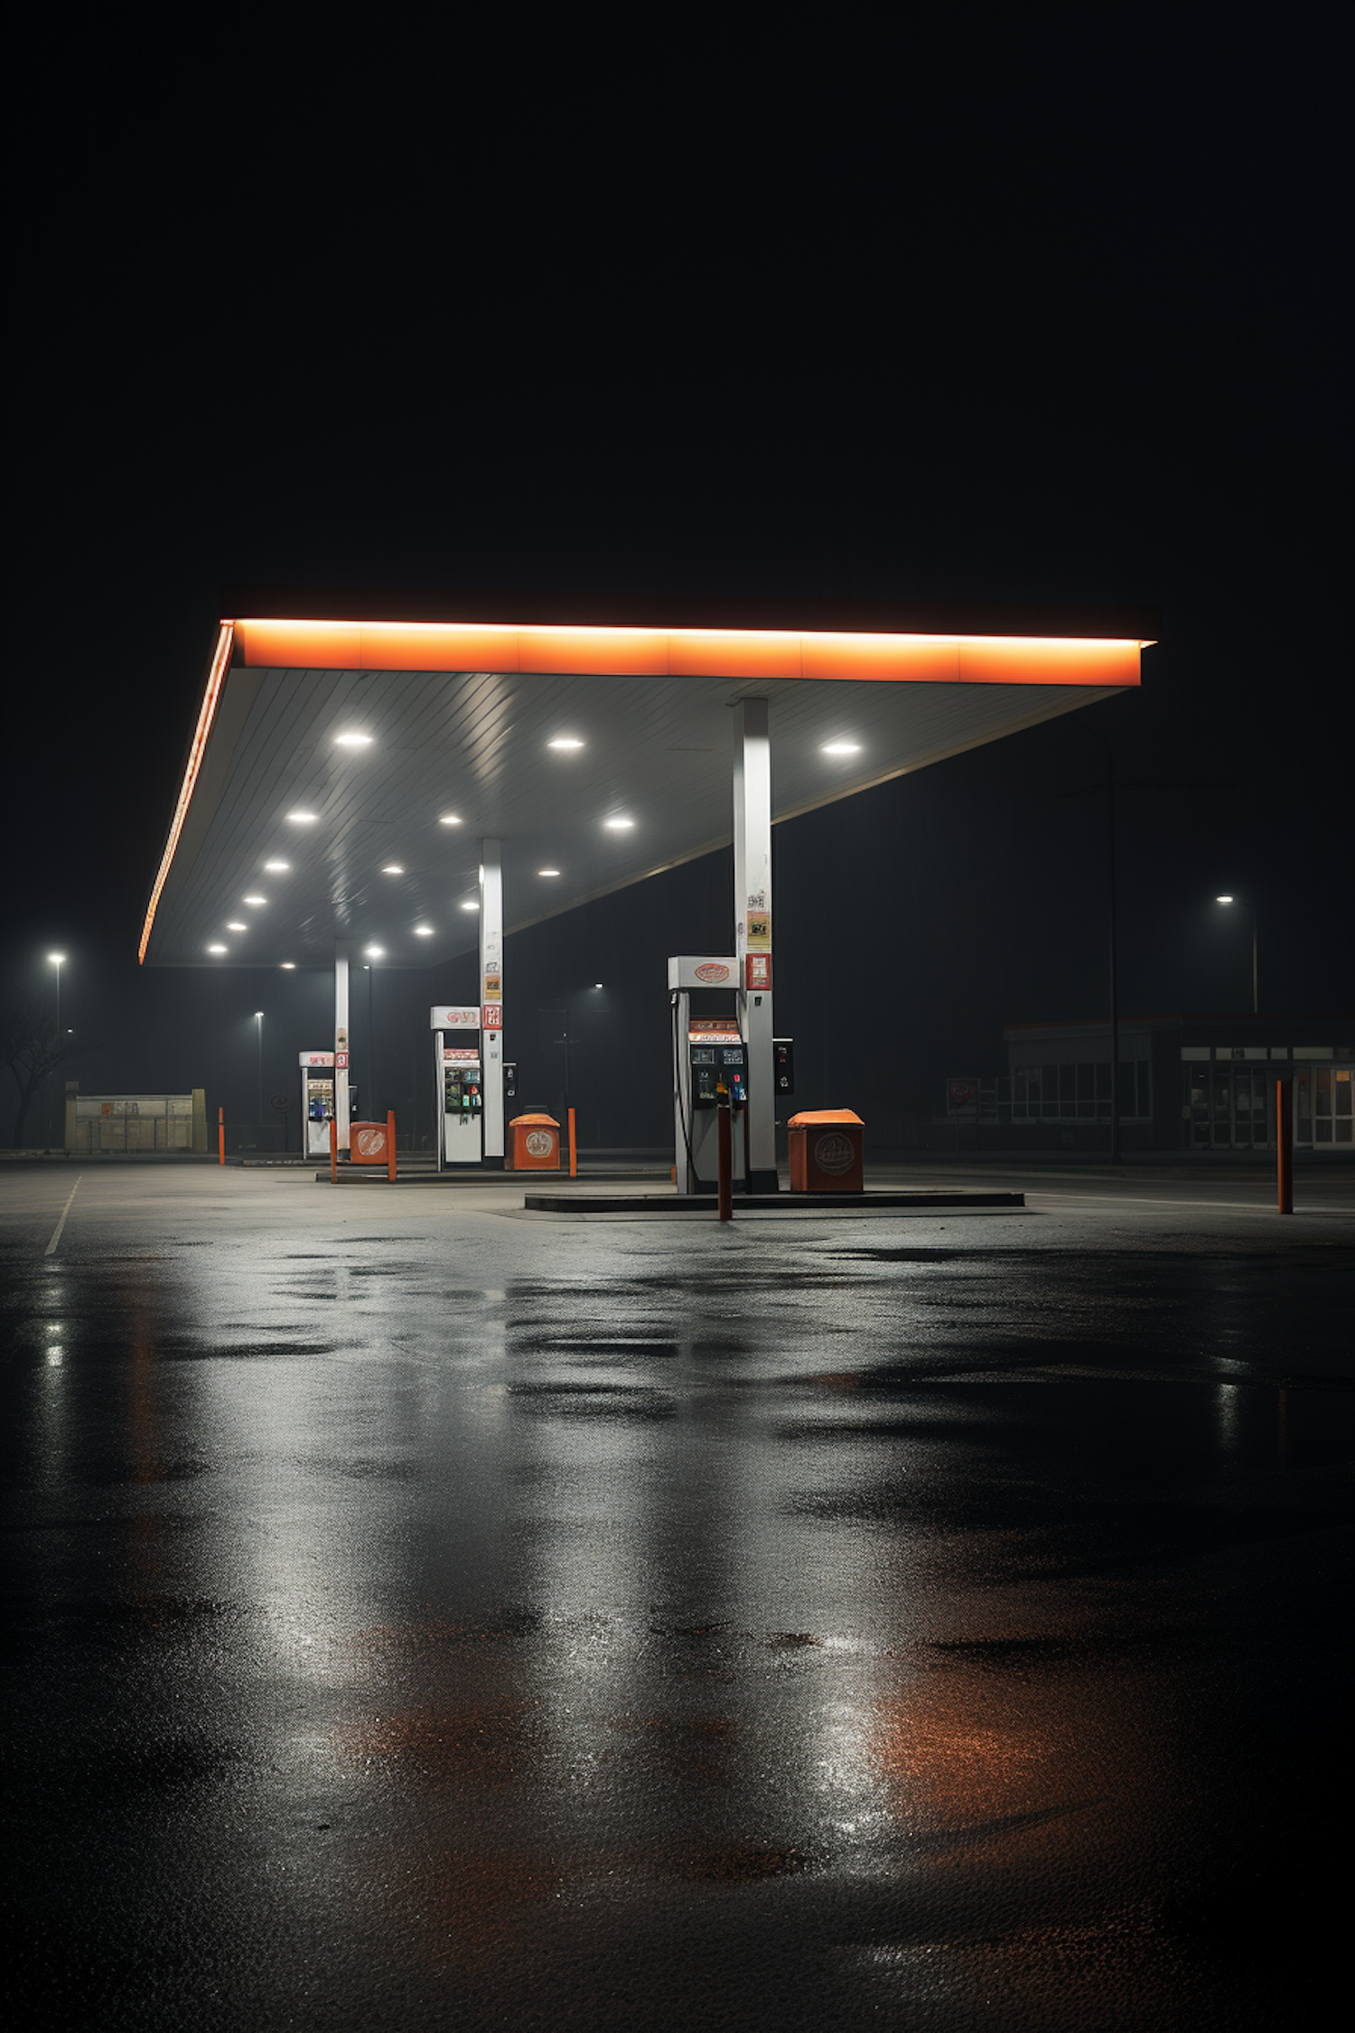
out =
{"type": "Polygon", "coordinates": [[[223,626],[146,921],[158,966],[329,966],[335,937],[394,966],[463,953],[481,836],[510,931],[707,854],[731,838],[746,695],[770,699],[780,821],[1119,689],[228,659],[223,626]]]}

